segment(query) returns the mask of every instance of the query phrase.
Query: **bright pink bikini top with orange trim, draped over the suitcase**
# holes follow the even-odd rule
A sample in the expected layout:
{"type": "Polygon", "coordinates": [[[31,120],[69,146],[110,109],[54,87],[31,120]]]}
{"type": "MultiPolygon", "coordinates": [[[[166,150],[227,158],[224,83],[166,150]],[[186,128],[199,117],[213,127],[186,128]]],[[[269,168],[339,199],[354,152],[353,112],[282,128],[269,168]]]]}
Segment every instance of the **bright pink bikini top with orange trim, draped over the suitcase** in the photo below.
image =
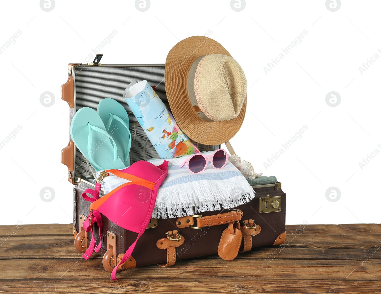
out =
{"type": "MultiPolygon", "coordinates": [[[[96,183],[95,190],[86,189],[82,193],[83,199],[90,201],[90,214],[88,219],[83,223],[86,232],[93,231],[92,226],[97,222],[99,226],[99,236],[102,231],[102,217],[106,216],[110,221],[126,230],[138,233],[138,237],[133,244],[127,249],[122,260],[114,268],[111,273],[111,280],[117,280],[116,272],[123,262],[130,257],[136,242],[144,233],[154,210],[157,190],[168,174],[168,161],[164,161],[162,165],[155,166],[148,161],[138,161],[125,169],[106,170],[115,176],[129,180],[131,182],[120,185],[103,197],[99,198],[100,183],[96,183]],[[93,197],[86,195],[89,193],[93,197]],[[91,220],[91,222],[90,222],[91,220]]],[[[96,252],[102,246],[102,238],[100,243],[95,245],[94,238],[87,251],[83,254],[88,259],[95,250],[96,252]]]]}

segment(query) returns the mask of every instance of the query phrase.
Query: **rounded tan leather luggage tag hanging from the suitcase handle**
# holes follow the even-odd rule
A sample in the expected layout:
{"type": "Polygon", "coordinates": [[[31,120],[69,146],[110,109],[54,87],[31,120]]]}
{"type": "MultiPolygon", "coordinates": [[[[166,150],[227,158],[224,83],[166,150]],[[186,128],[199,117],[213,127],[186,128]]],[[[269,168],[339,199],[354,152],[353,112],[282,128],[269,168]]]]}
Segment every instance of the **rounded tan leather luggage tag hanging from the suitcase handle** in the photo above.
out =
{"type": "Polygon", "coordinates": [[[224,260],[235,259],[241,246],[242,232],[233,225],[234,223],[229,224],[229,227],[224,230],[219,241],[218,256],[224,260]]]}

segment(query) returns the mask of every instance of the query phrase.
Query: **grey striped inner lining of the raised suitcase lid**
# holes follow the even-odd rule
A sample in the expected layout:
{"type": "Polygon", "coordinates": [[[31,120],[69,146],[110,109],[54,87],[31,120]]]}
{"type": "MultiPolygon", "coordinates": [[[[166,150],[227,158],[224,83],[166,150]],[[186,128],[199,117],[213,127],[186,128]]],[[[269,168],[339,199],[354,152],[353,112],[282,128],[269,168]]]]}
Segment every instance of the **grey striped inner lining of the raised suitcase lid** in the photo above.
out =
{"type": "MultiPolygon", "coordinates": [[[[149,141],[146,133],[139,125],[136,117],[123,98],[123,91],[132,80],[147,80],[151,86],[156,86],[156,93],[162,99],[166,107],[170,109],[165,93],[164,64],[160,65],[115,65],[115,66],[75,66],[74,67],[74,92],[75,107],[77,112],[82,107],[91,107],[96,110],[98,103],[104,98],[112,98],[118,101],[126,109],[130,120],[130,132],[132,144],[130,151],[130,163],[139,160],[158,158],[157,152],[149,141]]],[[[217,150],[218,145],[208,146],[195,143],[200,151],[217,150]]],[[[95,171],[92,168],[94,174],[95,171]]],[[[93,177],[85,158],[75,148],[74,177],[93,177]]]]}

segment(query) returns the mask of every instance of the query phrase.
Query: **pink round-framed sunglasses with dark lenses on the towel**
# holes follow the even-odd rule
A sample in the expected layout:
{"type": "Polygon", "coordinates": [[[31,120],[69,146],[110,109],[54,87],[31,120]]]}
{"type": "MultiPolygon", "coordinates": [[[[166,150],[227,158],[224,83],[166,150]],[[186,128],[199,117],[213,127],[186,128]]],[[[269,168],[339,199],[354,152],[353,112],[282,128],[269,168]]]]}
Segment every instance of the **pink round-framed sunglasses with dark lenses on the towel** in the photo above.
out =
{"type": "Polygon", "coordinates": [[[216,150],[211,156],[196,153],[187,158],[179,167],[182,168],[185,165],[192,174],[199,174],[205,171],[209,161],[213,168],[223,168],[227,163],[227,158],[229,158],[229,154],[224,149],[216,150]]]}

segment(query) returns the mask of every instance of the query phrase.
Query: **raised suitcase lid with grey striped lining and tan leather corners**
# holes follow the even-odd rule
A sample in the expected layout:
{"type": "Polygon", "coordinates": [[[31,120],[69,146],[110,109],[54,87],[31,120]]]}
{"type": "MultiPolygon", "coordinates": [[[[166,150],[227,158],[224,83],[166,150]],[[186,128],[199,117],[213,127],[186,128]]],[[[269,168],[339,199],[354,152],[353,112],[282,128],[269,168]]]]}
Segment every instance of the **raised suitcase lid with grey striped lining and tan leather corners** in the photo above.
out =
{"type": "MultiPolygon", "coordinates": [[[[69,64],[69,78],[61,87],[61,98],[69,104],[70,122],[82,107],[96,110],[98,103],[104,98],[118,101],[126,109],[130,120],[132,144],[130,163],[139,160],[158,158],[157,152],[139,125],[136,117],[123,98],[123,91],[128,84],[147,80],[155,87],[155,91],[166,107],[170,109],[165,93],[164,66],[165,64],[107,64],[99,63],[102,54],[98,54],[94,62],[88,64],[69,64]]],[[[69,144],[61,151],[61,162],[68,168],[68,181],[77,183],[78,177],[92,181],[95,170],[89,165],[82,153],[75,147],[69,134],[69,144]]],[[[194,142],[200,151],[219,149],[219,145],[209,146],[194,142]]]]}

